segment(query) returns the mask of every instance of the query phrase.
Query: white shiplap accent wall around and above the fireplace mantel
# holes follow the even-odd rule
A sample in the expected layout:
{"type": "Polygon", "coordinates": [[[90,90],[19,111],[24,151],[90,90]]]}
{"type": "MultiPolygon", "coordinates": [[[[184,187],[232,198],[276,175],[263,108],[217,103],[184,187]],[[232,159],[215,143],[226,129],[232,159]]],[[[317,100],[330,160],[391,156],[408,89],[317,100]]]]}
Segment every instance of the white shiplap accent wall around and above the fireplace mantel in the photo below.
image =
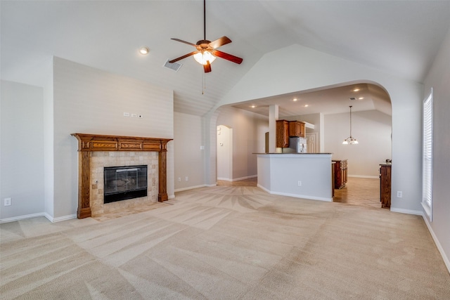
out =
{"type": "MultiPolygon", "coordinates": [[[[77,209],[77,141],[70,133],[174,137],[173,91],[145,81],[54,58],[53,103],[53,218],[74,214],[77,209]],[[124,117],[124,112],[130,117],[124,117]]],[[[174,195],[170,143],[167,193],[174,195]]]]}

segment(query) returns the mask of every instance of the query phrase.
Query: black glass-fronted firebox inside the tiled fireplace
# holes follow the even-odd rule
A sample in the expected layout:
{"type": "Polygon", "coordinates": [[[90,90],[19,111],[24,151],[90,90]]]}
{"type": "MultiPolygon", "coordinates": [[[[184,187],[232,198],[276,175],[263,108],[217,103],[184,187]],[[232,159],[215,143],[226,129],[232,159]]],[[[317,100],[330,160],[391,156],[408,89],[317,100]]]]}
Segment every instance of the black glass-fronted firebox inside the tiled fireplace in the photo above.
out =
{"type": "Polygon", "coordinates": [[[147,196],[147,166],[105,167],[103,203],[147,196]]]}

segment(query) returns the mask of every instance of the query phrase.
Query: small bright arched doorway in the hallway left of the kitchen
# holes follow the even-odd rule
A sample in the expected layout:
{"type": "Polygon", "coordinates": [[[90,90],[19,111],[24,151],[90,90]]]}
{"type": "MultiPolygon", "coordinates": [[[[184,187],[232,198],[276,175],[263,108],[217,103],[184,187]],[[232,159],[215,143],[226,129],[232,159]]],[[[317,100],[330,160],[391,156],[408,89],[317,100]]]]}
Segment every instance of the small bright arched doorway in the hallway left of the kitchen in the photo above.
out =
{"type": "Polygon", "coordinates": [[[217,180],[233,181],[233,129],[217,126],[217,180]]]}

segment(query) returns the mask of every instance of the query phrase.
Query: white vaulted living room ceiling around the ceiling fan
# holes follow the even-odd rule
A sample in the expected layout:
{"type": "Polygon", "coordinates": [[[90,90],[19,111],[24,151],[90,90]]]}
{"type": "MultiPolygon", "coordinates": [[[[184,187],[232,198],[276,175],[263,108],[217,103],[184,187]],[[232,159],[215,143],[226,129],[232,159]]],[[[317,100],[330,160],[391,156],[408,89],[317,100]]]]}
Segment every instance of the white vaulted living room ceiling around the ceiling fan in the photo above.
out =
{"type": "MultiPolygon", "coordinates": [[[[1,79],[41,85],[41,65],[58,56],[172,89],[174,110],[192,115],[210,111],[265,53],[292,44],[422,82],[450,27],[450,1],[208,0],[207,39],[229,37],[220,50],[243,63],[218,58],[204,74],[193,58],[180,60],[178,72],[163,67],[193,51],[171,38],[203,39],[203,1],[1,0],[0,13],[1,79]],[[139,54],[141,46],[150,53],[139,54]]],[[[364,88],[375,99],[368,107],[383,111],[376,88],[364,88]]],[[[330,98],[320,93],[316,99],[330,98]]]]}

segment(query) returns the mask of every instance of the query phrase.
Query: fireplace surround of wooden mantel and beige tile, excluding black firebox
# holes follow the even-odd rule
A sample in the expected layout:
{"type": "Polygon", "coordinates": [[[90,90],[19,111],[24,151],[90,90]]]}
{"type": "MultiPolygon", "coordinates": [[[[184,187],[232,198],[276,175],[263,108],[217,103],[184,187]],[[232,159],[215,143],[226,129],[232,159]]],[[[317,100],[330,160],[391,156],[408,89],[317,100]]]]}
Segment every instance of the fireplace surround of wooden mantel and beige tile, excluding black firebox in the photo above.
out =
{"type": "Polygon", "coordinates": [[[167,143],[171,138],[143,138],[135,136],[101,136],[96,134],[72,133],[78,140],[78,219],[98,216],[108,209],[120,209],[124,205],[135,205],[167,197],[167,143]],[[95,152],[95,153],[94,153],[95,152]],[[158,152],[158,162],[156,153],[158,152]],[[145,199],[103,204],[103,167],[148,165],[148,196],[145,199]],[[158,166],[158,177],[156,177],[158,166]],[[101,171],[99,171],[101,170],[101,171]],[[101,173],[101,174],[99,174],[101,173]],[[101,194],[101,195],[100,195],[101,194]],[[125,204],[126,203],[126,204],[125,204]]]}

